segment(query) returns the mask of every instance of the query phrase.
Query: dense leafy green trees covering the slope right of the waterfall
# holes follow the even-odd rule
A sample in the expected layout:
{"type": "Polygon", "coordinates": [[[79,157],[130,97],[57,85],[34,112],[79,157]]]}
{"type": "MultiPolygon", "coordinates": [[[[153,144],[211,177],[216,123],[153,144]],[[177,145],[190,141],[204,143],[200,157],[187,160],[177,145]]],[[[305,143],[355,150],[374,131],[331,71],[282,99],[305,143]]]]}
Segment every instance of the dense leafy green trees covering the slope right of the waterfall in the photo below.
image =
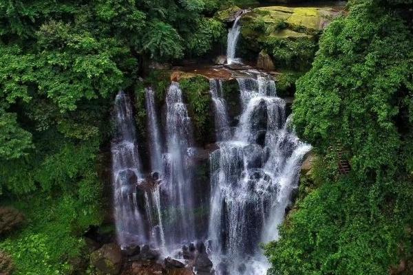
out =
{"type": "Polygon", "coordinates": [[[318,160],[266,247],[272,274],[388,274],[412,259],[413,34],[394,3],[350,2],[297,81],[295,125],[318,160]]]}

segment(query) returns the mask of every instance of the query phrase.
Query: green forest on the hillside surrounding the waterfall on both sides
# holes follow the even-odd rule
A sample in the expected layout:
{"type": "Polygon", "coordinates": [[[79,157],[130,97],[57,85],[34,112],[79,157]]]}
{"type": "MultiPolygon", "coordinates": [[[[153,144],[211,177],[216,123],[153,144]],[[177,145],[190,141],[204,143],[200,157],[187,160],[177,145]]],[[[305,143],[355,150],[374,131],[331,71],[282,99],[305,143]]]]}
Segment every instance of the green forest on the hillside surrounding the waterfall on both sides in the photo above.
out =
{"type": "MultiPolygon", "coordinates": [[[[166,104],[170,68],[222,55],[223,14],[240,8],[256,15],[240,19],[240,56],[268,53],[278,95],[293,98],[295,133],[312,146],[279,239],[256,243],[267,274],[413,274],[413,1],[350,0],[322,32],[267,28],[255,10],[291,2],[0,0],[0,274],[156,274],[90,261],[116,234],[116,95],[132,98],[138,140],[150,140],[145,87],[166,104]]],[[[194,140],[207,150],[217,142],[210,83],[183,75],[194,140]]],[[[224,83],[228,102],[235,86],[224,83]]],[[[209,181],[207,161],[198,181],[209,181]]]]}

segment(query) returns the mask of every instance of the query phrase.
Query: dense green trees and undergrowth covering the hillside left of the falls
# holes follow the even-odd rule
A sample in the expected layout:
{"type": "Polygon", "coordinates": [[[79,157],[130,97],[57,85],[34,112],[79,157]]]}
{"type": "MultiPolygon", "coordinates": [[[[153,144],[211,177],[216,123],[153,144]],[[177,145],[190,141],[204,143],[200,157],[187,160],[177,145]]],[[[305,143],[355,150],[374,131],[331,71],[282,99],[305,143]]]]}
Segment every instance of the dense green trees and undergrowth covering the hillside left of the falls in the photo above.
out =
{"type": "Polygon", "coordinates": [[[206,15],[218,8],[203,0],[0,1],[0,201],[28,220],[0,250],[17,274],[72,270],[81,235],[104,217],[112,98],[133,91],[151,61],[212,50],[224,28],[206,15]]]}

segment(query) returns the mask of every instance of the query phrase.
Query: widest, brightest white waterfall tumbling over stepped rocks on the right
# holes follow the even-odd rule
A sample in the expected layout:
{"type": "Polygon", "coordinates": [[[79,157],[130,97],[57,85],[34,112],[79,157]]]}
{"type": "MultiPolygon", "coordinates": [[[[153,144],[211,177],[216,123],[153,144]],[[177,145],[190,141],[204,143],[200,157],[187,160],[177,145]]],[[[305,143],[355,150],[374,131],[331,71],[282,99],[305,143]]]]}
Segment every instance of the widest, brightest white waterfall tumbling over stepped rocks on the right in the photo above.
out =
{"type": "Polygon", "coordinates": [[[209,238],[217,274],[264,274],[258,244],[277,239],[310,146],[288,128],[273,80],[259,74],[237,81],[240,122],[210,155],[209,238]]]}

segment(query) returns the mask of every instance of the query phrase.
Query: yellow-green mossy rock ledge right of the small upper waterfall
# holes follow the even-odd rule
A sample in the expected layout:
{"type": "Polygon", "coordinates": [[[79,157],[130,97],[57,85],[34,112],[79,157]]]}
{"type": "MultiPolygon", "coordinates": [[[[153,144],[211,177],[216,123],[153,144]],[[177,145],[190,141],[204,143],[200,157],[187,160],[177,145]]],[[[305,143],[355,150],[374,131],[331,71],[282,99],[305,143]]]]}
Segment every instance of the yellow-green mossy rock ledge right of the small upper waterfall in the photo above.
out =
{"type": "Polygon", "coordinates": [[[313,61],[319,34],[339,16],[337,8],[255,8],[241,19],[242,58],[255,60],[266,50],[276,69],[305,71],[313,61]]]}

